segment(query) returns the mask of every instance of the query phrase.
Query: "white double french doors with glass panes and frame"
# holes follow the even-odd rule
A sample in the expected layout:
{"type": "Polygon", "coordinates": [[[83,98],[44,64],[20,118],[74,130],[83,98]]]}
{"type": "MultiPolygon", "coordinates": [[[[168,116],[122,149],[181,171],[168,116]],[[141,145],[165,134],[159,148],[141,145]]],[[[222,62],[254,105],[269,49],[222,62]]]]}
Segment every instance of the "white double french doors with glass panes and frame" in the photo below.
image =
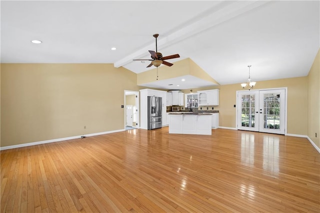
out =
{"type": "Polygon", "coordinates": [[[237,91],[237,129],[285,133],[285,88],[237,91]]]}

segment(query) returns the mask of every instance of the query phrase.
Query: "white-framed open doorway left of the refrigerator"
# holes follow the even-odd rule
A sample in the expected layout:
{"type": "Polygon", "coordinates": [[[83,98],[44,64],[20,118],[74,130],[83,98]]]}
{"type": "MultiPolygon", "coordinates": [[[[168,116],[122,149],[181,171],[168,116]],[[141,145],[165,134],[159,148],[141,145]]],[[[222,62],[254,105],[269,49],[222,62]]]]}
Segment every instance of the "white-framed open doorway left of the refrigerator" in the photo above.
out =
{"type": "Polygon", "coordinates": [[[124,90],[124,129],[139,127],[139,92],[124,90]]]}

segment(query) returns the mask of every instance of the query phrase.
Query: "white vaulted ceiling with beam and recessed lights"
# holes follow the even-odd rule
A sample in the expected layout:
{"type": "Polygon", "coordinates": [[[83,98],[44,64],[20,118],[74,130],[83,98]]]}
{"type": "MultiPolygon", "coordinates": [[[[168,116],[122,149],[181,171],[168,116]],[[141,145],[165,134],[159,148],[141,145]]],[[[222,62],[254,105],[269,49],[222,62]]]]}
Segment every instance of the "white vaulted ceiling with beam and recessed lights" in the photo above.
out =
{"type": "MultiPolygon", "coordinates": [[[[152,34],[159,33],[158,51],[180,54],[168,62],[189,57],[230,84],[246,82],[247,65],[253,81],[305,76],[320,42],[318,0],[1,0],[0,6],[2,63],[114,63],[139,73],[154,66],[132,59],[149,58],[152,34]]],[[[172,89],[170,83],[180,78],[148,86],[172,89]]]]}

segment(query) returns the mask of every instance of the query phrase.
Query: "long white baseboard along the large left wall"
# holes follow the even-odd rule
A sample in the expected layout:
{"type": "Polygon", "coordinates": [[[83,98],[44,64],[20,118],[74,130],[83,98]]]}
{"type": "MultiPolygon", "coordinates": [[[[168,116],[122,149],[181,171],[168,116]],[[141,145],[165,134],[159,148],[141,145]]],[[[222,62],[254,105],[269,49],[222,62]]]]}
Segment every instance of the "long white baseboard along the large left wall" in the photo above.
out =
{"type": "Polygon", "coordinates": [[[25,146],[30,146],[30,145],[38,145],[38,144],[49,143],[49,142],[58,142],[58,141],[62,141],[62,140],[76,139],[76,138],[80,138],[81,136],[89,137],[89,136],[95,136],[95,135],[100,135],[100,134],[109,134],[109,133],[119,132],[119,131],[124,131],[124,130],[125,129],[117,129],[117,130],[112,130],[112,131],[103,131],[103,132],[97,132],[97,133],[91,133],[91,134],[82,134],[82,135],[77,135],[77,136],[63,137],[63,138],[57,138],[57,139],[51,139],[51,140],[42,140],[42,141],[37,141],[37,142],[8,145],[8,146],[0,147],[0,150],[19,148],[19,147],[25,147],[25,146]]]}

